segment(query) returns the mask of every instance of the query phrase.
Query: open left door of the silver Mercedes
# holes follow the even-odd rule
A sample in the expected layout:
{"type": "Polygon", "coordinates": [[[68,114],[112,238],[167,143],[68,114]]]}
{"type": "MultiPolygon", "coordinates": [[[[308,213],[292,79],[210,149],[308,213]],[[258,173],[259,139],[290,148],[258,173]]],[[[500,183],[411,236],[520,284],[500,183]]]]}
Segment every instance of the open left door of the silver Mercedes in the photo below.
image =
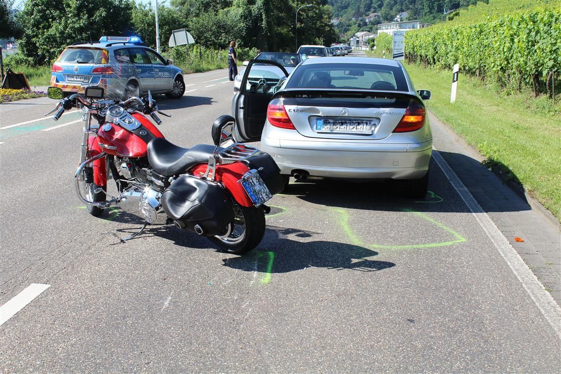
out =
{"type": "Polygon", "coordinates": [[[255,59],[247,64],[240,91],[234,94],[232,100],[236,141],[261,139],[269,101],[286,77],[288,72],[278,62],[255,59]]]}

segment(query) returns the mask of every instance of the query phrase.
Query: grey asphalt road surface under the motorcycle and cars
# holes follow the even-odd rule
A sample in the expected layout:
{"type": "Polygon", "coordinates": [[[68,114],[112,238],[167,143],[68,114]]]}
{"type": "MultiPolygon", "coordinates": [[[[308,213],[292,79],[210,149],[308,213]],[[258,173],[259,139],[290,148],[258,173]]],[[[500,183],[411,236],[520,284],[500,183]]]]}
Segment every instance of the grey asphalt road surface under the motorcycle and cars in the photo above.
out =
{"type": "MultiPolygon", "coordinates": [[[[186,84],[160,130],[210,143],[232,82],[186,84]]],[[[0,105],[28,122],[0,129],[0,305],[50,285],[0,327],[0,372],[557,372],[558,331],[435,162],[419,201],[292,184],[246,256],[174,227],[122,244],[140,220],[73,191],[77,114],[29,122],[54,103],[0,105]]]]}

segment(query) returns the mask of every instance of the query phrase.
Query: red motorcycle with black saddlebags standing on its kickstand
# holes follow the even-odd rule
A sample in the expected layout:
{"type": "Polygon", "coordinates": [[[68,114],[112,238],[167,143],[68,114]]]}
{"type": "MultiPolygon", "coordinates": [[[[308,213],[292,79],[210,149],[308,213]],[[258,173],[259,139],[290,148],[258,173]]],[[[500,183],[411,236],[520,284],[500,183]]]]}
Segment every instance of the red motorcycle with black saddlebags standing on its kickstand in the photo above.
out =
{"type": "MultiPolygon", "coordinates": [[[[220,116],[211,128],[213,145],[182,148],[165,140],[156,124],[160,112],[149,93],[126,101],[103,99],[100,87],[85,87],[84,95],[59,99],[54,120],[77,103],[84,120],[76,191],[93,216],[119,206],[148,224],[174,224],[208,237],[220,250],[244,253],[257,246],[265,232],[264,203],[283,190],[284,180],[266,153],[233,141],[234,119],[220,116]],[[229,146],[224,144],[231,143],[229,146]],[[109,195],[114,179],[117,196],[109,195]]],[[[169,117],[169,116],[167,116],[169,117]]]]}

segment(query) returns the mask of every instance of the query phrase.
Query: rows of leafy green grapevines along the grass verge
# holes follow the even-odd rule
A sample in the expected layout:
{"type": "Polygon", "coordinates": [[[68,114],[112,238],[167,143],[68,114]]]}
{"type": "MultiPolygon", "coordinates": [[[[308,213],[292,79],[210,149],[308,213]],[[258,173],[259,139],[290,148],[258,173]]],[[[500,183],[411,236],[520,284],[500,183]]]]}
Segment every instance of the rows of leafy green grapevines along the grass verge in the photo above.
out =
{"type": "Polygon", "coordinates": [[[405,46],[408,62],[438,68],[458,63],[468,75],[503,89],[530,86],[536,96],[553,98],[554,85],[561,87],[561,8],[410,31],[405,46]]]}

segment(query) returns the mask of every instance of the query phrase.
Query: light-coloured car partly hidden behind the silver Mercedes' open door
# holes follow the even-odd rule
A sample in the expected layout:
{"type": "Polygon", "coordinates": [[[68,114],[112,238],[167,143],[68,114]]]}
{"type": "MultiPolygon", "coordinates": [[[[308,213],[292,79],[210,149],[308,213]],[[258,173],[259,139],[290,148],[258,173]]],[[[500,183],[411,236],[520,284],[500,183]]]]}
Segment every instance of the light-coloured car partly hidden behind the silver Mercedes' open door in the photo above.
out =
{"type": "MultiPolygon", "coordinates": [[[[277,62],[283,66],[288,73],[291,73],[296,65],[300,63],[301,56],[297,53],[261,52],[255,59],[277,62]]],[[[247,66],[248,63],[249,61],[243,62],[245,66],[247,66]]],[[[245,68],[234,77],[234,91],[240,90],[243,73],[245,73],[245,68]]],[[[278,67],[256,63],[255,68],[252,70],[250,81],[259,81],[261,78],[266,78],[269,84],[276,84],[280,79],[284,79],[284,73],[278,67]],[[257,66],[259,66],[259,68],[257,68],[257,66]]]]}

